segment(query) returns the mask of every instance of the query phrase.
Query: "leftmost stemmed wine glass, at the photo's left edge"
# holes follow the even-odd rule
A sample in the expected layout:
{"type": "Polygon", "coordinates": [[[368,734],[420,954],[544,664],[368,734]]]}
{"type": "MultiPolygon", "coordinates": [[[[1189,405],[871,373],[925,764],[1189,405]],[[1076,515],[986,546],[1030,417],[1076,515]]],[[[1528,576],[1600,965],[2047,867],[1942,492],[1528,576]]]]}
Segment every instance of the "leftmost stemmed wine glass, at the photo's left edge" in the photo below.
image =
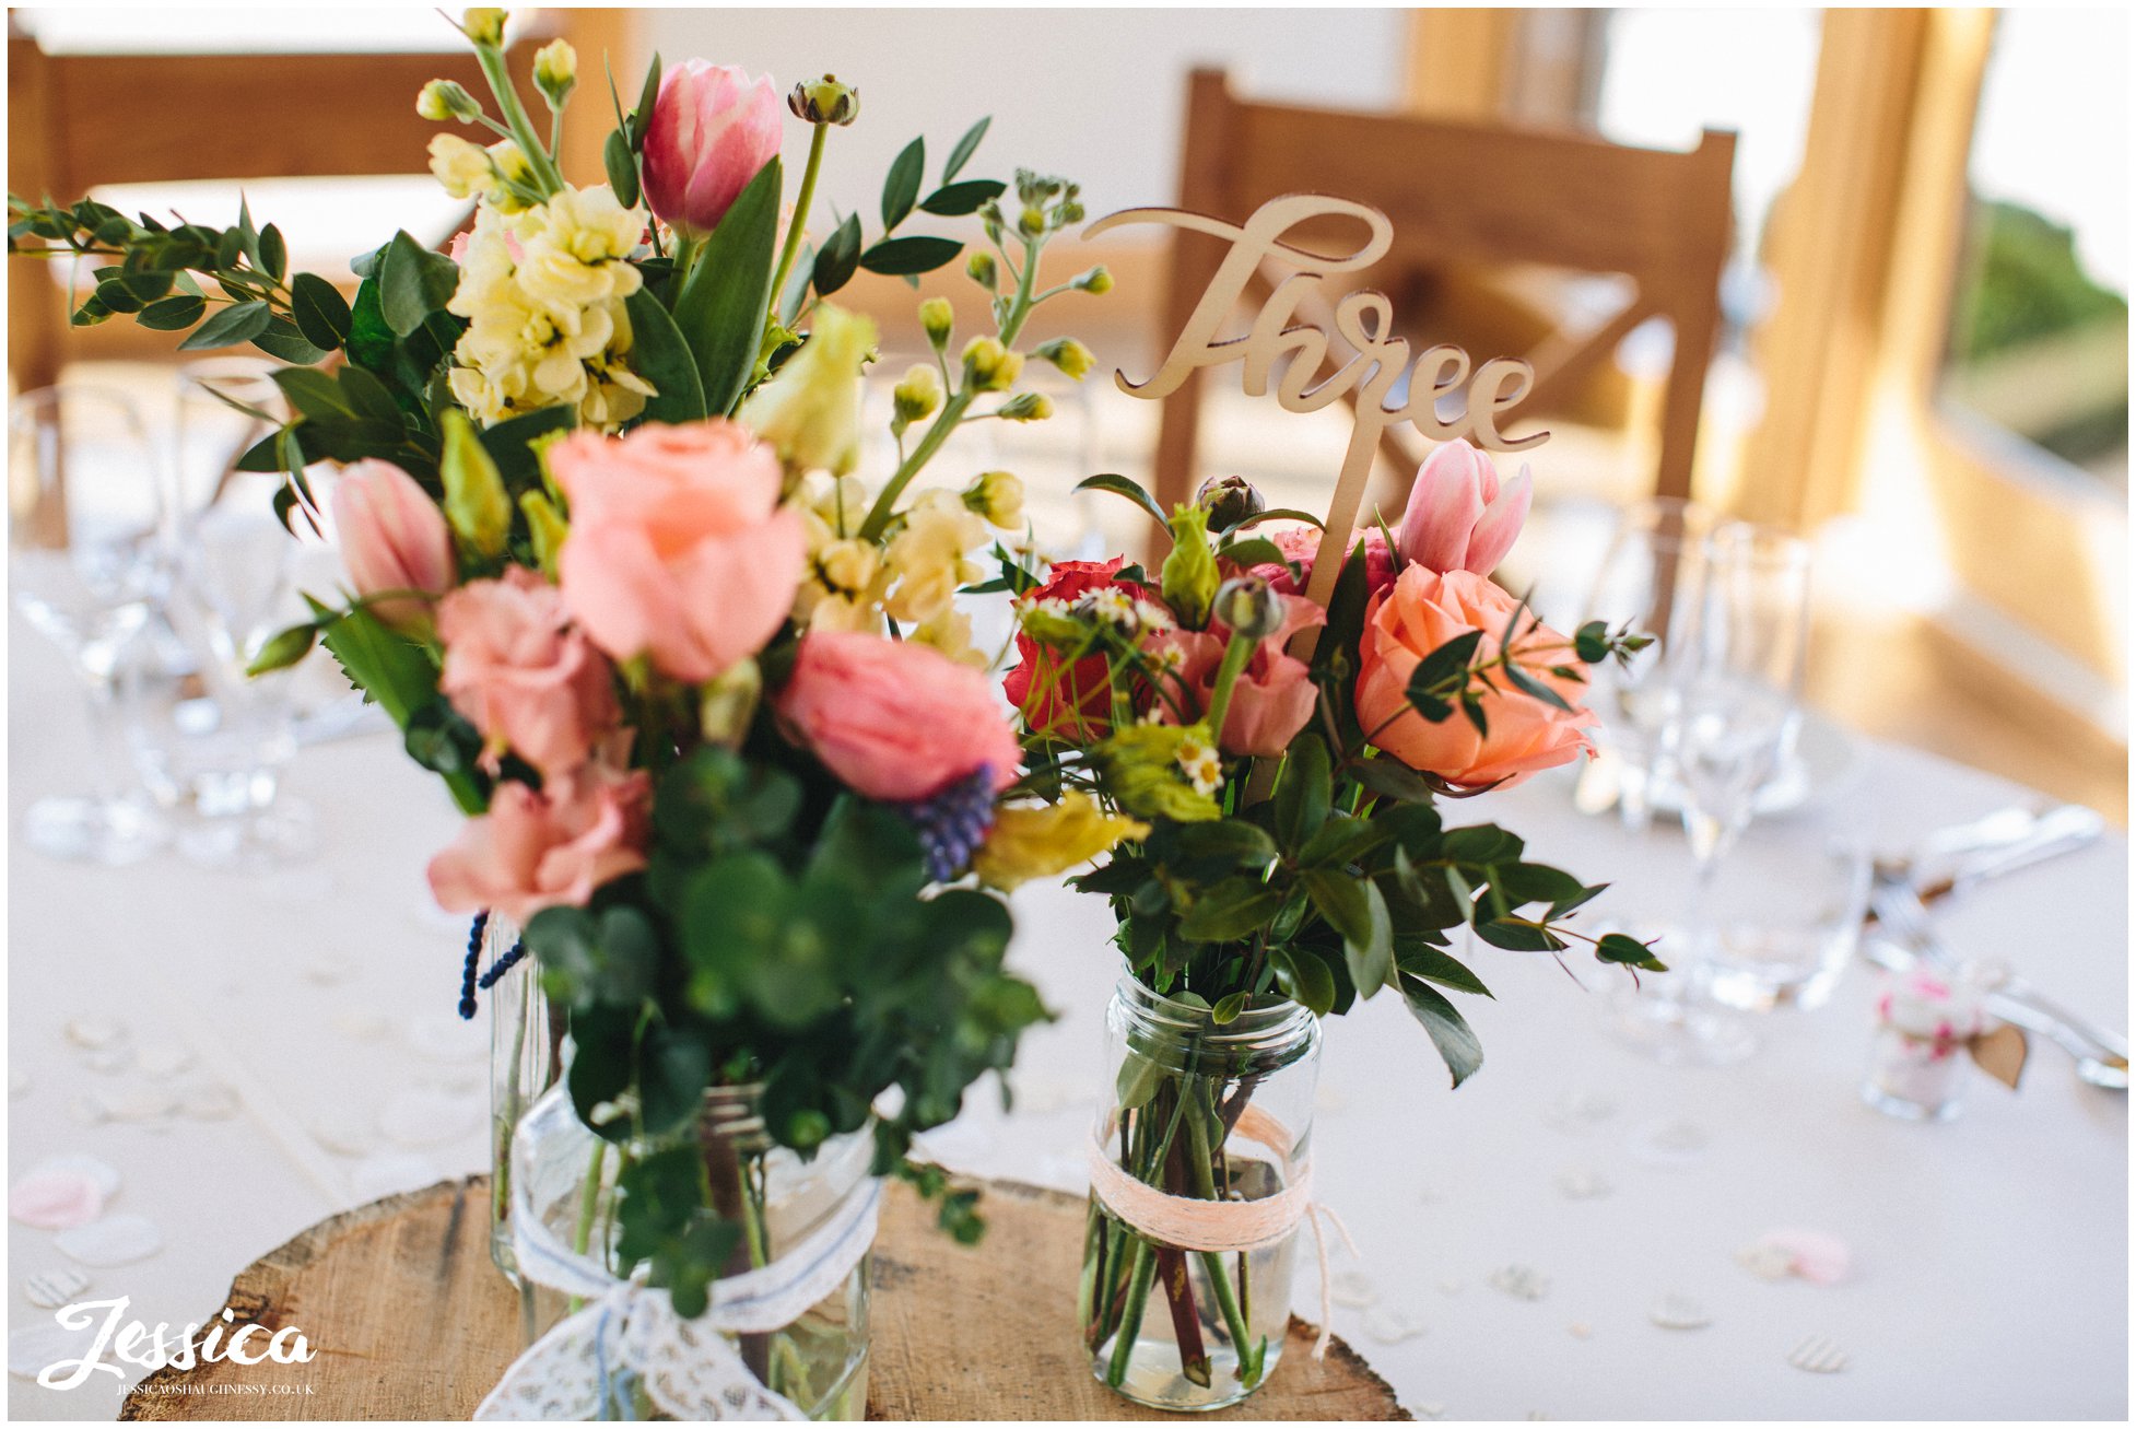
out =
{"type": "Polygon", "coordinates": [[[23,837],[56,859],[132,863],[162,820],[120,790],[111,709],[126,647],[169,583],[164,502],[147,429],[111,389],[64,382],[9,406],[9,587],[88,696],[88,797],[30,805],[23,837]]]}

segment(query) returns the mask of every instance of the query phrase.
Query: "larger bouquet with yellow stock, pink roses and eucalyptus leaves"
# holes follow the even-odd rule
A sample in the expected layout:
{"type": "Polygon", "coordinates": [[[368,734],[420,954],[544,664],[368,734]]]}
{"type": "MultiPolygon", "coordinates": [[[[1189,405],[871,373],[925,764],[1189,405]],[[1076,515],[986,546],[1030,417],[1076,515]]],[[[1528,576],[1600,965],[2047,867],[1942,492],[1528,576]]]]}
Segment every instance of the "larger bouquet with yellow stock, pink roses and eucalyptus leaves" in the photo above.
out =
{"type": "MultiPolygon", "coordinates": [[[[417,100],[496,137],[429,145],[472,231],[451,252],[395,233],[355,263],[355,301],[288,271],[250,211],[211,229],[11,197],[9,237],[96,265],[77,325],[128,314],[288,363],[295,419],[239,466],[286,472],[290,530],[327,515],[316,464],[344,468],[348,590],[312,598],[254,671],[325,645],[451,788],[468,822],[429,867],[438,901],[523,929],[568,1008],[570,1106],[609,1149],[577,1250],[598,1213],[607,1269],[688,1318],[713,1277],[780,1254],[760,1166],[694,1134],[709,1092],[748,1089],[763,1143],[803,1158],[871,1134],[876,1175],[942,1194],[944,1224],[976,1235],[972,1196],[910,1141],[1047,1012],[1002,968],[1004,901],[965,874],[1006,884],[1098,848],[1087,818],[1002,807],[1019,737],[955,607],[1021,532],[1021,485],[918,478],[961,423],[1051,412],[1019,391],[1019,333],[1111,278],[1040,282],[1083,218],[1077,186],[968,177],[985,120],[931,186],[921,139],[897,156],[878,233],[854,214],[812,246],[827,139],[859,115],[831,77],[786,96],[810,145],[784,224],[780,96],[703,60],[654,60],[628,113],[611,85],[609,184],[575,188],[555,141],[577,58],[534,56],[545,141],[504,19],[461,19],[489,107],[449,81],[417,100]],[[908,233],[918,214],[983,244],[908,233]],[[921,303],[931,361],[897,382],[899,459],[869,485],[876,331],[829,299],[859,269],[916,286],[959,258],[993,331],[959,348],[951,303],[921,303]]],[[[1089,367],[1066,337],[1032,355],[1089,367]]],[[[470,948],[466,1015],[476,980],[470,948]]]]}

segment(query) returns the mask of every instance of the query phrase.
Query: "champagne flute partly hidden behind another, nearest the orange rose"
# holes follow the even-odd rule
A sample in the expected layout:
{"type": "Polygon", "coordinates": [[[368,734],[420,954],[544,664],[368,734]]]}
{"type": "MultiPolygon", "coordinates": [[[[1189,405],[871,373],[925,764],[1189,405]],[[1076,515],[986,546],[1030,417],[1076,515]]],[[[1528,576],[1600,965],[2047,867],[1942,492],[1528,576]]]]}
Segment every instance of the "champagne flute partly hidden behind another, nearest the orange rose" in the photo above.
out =
{"type": "Polygon", "coordinates": [[[1709,508],[1672,496],[1628,506],[1581,613],[1581,624],[1600,619],[1653,639],[1623,664],[1608,660],[1587,671],[1587,705],[1602,722],[1598,758],[1581,769],[1574,801],[1589,812],[1615,803],[1632,833],[1653,820],[1655,797],[1668,782],[1662,763],[1675,701],[1668,654],[1690,624],[1685,607],[1700,587],[1705,538],[1713,525],[1709,508]]]}

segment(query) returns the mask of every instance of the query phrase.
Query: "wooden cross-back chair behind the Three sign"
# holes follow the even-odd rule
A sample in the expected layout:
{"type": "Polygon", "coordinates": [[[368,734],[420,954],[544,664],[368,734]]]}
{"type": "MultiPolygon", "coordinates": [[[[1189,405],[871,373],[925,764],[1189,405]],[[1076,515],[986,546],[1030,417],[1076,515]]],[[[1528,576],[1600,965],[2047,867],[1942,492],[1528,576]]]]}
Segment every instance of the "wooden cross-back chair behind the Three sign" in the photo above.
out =
{"type": "MultiPolygon", "coordinates": [[[[1630,280],[1632,299],[1623,310],[1559,329],[1525,352],[1536,365],[1536,387],[1521,414],[1561,410],[1625,333],[1649,318],[1666,318],[1675,329],[1675,359],[1653,489],[1690,496],[1700,393],[1719,327],[1732,162],[1730,132],[1707,130],[1690,154],[1670,154],[1504,126],[1260,105],[1237,98],[1222,70],[1196,70],[1188,83],[1179,207],[1241,222],[1286,192],[1371,203],[1395,224],[1393,252],[1376,276],[1397,282],[1480,263],[1630,280]]],[[[1220,258],[1215,239],[1175,235],[1166,333],[1185,325],[1220,258]]],[[[1399,303],[1395,318],[1403,320],[1399,303]]],[[[1435,340],[1408,335],[1427,346],[1435,340]]],[[[1164,399],[1156,493],[1166,511],[1188,500],[1196,485],[1205,376],[1196,374],[1164,399]]],[[[1423,440],[1410,429],[1388,429],[1380,451],[1403,483],[1425,457],[1423,440]]]]}

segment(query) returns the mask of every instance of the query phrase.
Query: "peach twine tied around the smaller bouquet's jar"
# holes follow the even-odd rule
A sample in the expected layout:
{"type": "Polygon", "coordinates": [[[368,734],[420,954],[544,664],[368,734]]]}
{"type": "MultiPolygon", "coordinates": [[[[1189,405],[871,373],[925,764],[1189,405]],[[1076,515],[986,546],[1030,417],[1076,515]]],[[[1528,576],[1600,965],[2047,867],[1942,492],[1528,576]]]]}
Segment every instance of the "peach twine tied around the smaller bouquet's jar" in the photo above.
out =
{"type": "Polygon", "coordinates": [[[1356,1256],[1356,1241],[1329,1207],[1314,1200],[1314,1168],[1292,1160],[1294,1143],[1290,1130],[1265,1113],[1247,1106],[1232,1128],[1232,1136],[1252,1141],[1275,1153],[1284,1173],[1284,1190],[1260,1200],[1203,1200],[1198,1196],[1173,1196],[1147,1181],[1138,1181],[1113,1162],[1104,1149],[1111,1124],[1104,1134],[1091,1126],[1089,1132],[1089,1188],[1104,1207],[1128,1222],[1138,1235],[1160,1245],[1179,1250],[1211,1250],[1220,1254],[1252,1254],[1279,1245],[1305,1222],[1314,1230],[1314,1256],[1320,1262],[1320,1337],[1314,1341],[1314,1359],[1326,1359],[1329,1339],[1335,1335],[1335,1294],[1329,1277],[1329,1243],[1322,1222],[1335,1226],[1344,1245],[1356,1256]]]}

